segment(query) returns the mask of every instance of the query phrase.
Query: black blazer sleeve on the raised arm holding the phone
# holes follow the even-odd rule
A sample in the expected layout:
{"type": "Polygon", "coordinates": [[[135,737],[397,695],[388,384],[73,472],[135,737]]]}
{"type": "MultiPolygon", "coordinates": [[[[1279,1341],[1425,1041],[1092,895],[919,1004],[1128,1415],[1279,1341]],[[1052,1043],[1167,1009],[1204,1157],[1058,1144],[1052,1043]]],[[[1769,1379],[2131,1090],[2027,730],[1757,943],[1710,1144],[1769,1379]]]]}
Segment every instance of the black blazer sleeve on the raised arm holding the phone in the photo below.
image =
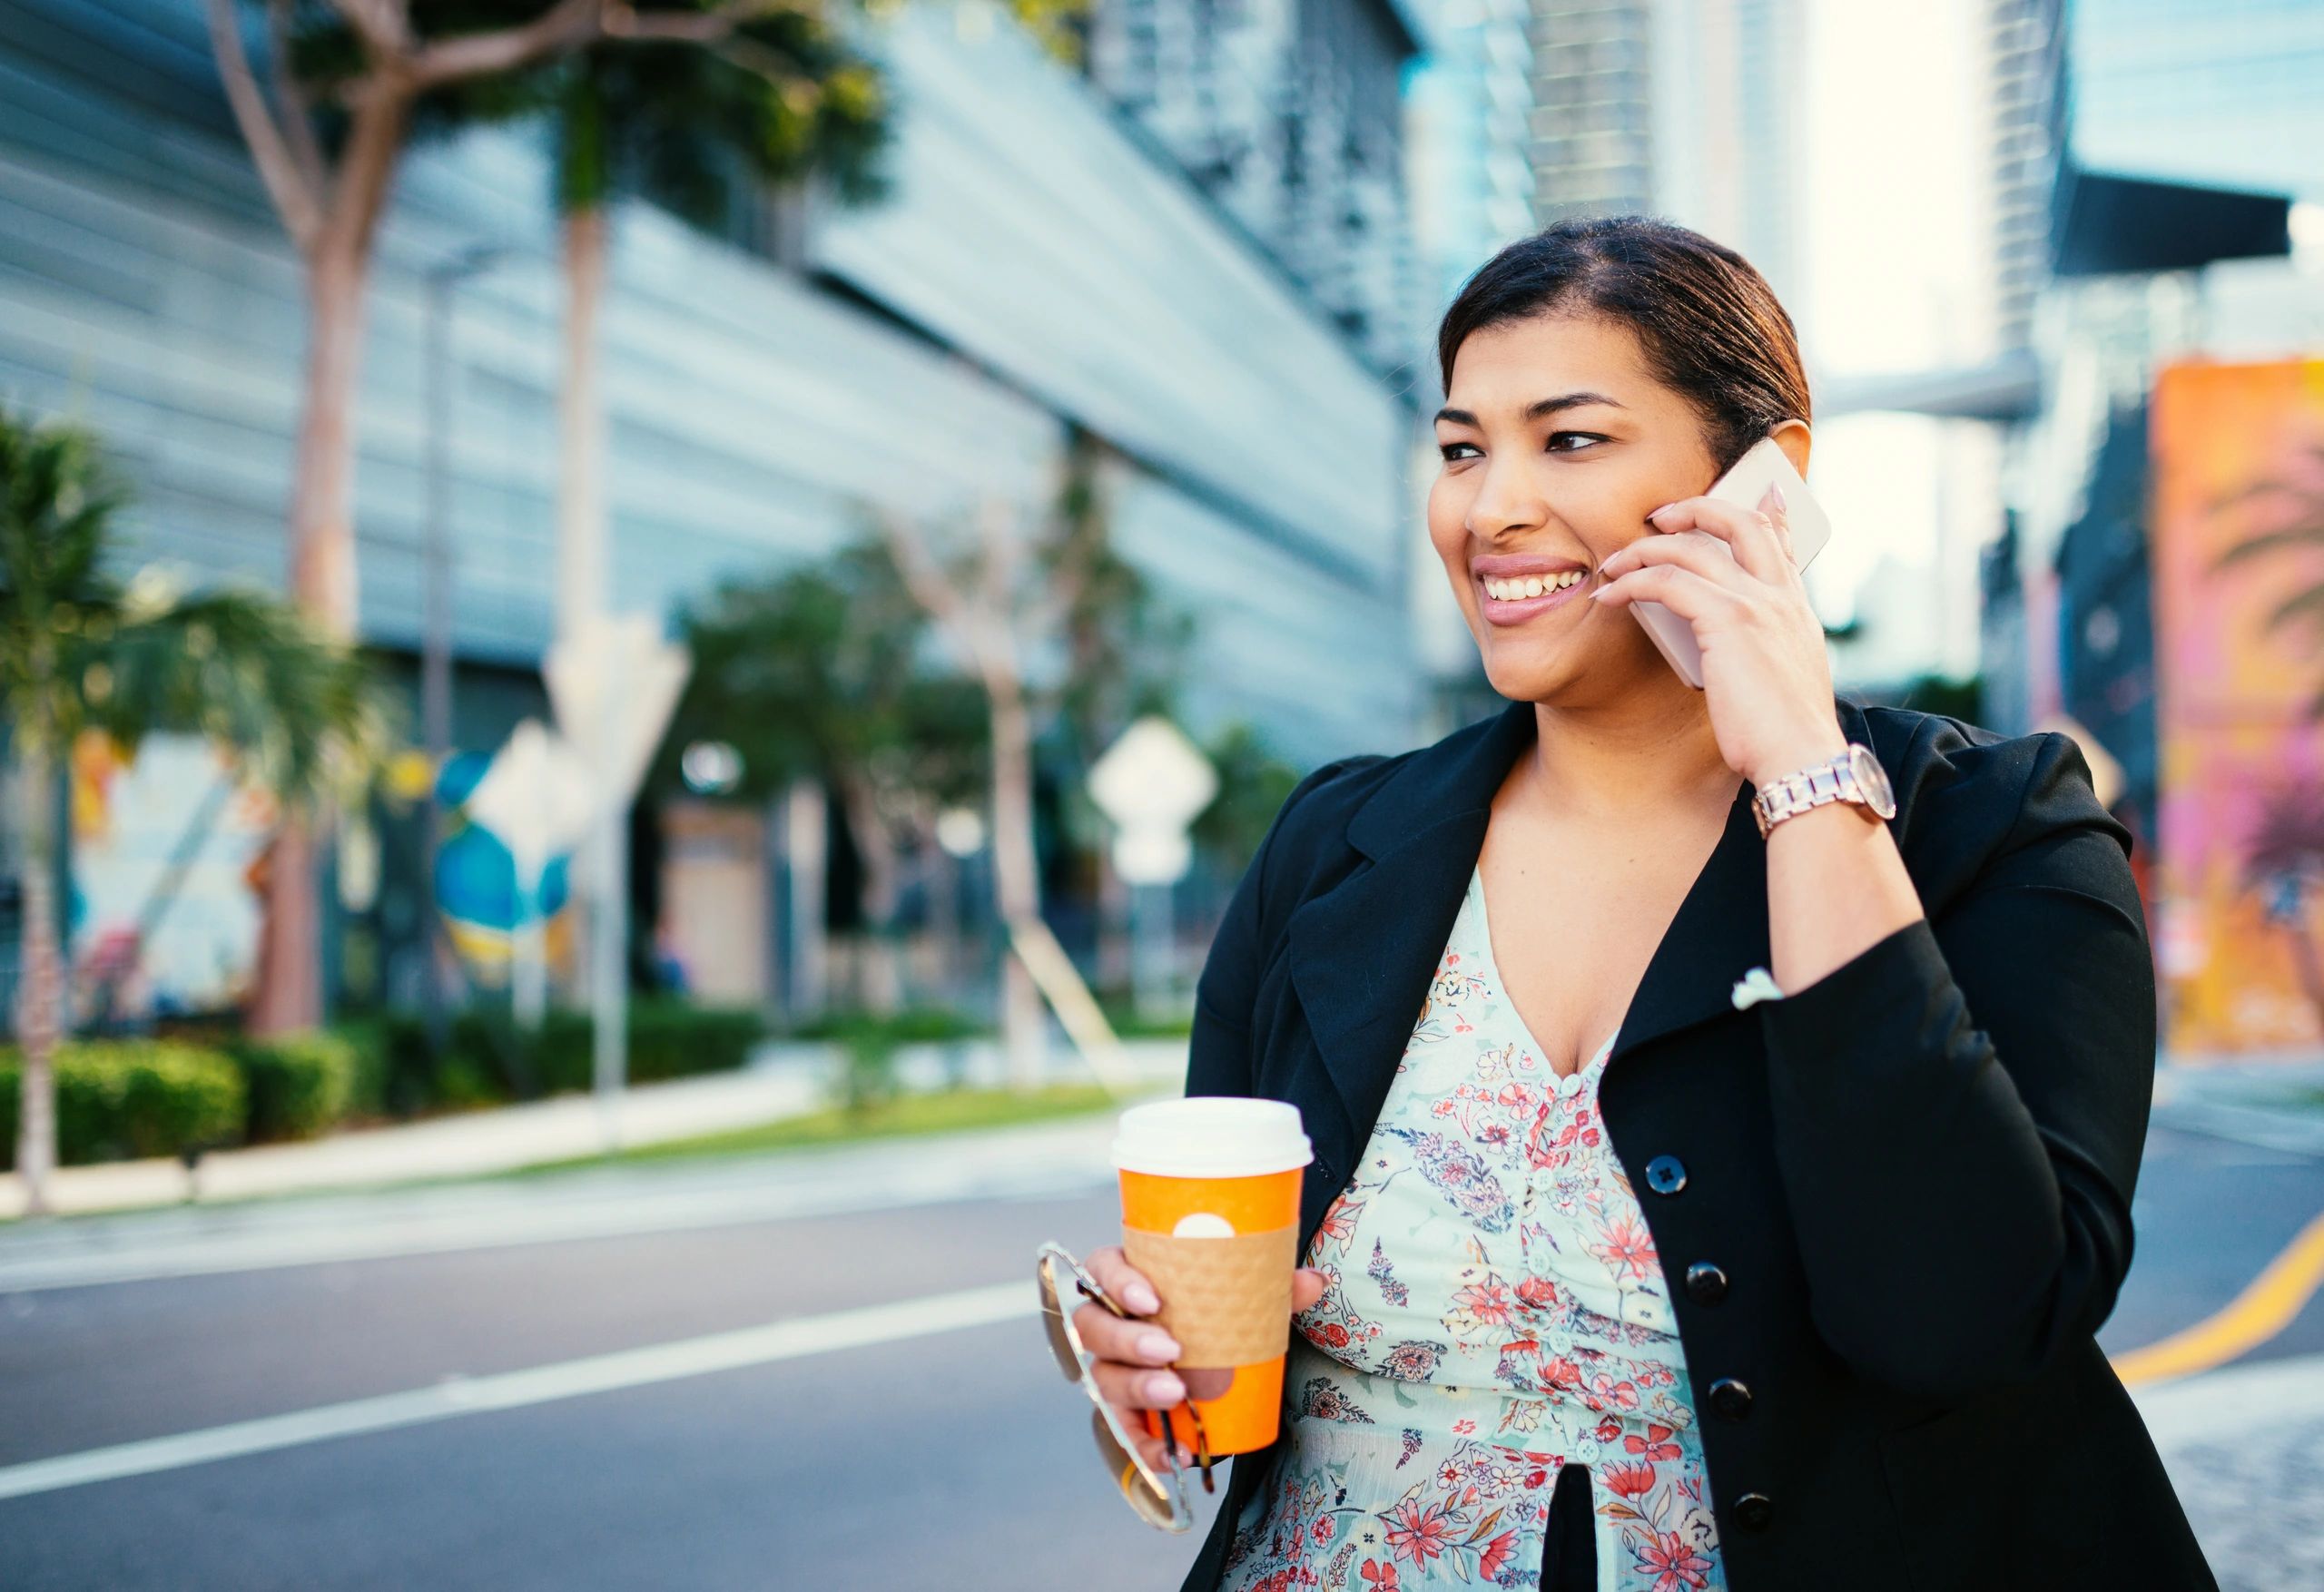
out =
{"type": "Polygon", "coordinates": [[[2131,1264],[2154,962],[2129,837],[2040,737],[1934,918],[1762,1002],[1810,1311],[1859,1374],[1961,1399],[2094,1334],[2131,1264]]]}

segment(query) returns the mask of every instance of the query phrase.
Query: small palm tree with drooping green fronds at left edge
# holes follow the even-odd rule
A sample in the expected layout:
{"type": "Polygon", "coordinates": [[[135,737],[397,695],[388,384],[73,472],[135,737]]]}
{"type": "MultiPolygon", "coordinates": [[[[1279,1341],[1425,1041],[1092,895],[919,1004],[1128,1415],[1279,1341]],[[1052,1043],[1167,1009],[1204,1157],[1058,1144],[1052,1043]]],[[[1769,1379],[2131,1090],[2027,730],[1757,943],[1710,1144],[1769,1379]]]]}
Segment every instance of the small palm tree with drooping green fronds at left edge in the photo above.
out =
{"type": "Polygon", "coordinates": [[[21,830],[23,969],[16,1169],[28,1211],[56,1167],[51,1057],[65,1027],[51,834],[56,769],[86,730],[135,751],[158,730],[228,746],[244,779],[297,799],[358,772],[383,739],[370,669],[295,607],[179,595],[109,569],[125,493],[95,439],[0,409],[0,704],[21,830]]]}

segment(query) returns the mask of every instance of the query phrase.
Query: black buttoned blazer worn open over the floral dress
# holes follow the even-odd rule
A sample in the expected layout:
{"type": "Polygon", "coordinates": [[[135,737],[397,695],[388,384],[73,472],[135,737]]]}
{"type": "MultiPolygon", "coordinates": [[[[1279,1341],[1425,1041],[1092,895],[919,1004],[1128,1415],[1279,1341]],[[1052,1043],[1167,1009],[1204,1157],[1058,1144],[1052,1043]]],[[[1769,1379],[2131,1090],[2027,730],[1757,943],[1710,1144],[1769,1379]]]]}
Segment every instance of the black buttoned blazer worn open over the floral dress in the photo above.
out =
{"type": "MultiPolygon", "coordinates": [[[[2215,1592],[2092,1339],[2131,1264],[2154,1078],[2129,834],[2061,734],[1838,713],[1896,786],[1927,923],[1738,1011],[1736,978],[1769,960],[1745,788],[1601,1083],[1664,1274],[1724,1274],[1673,1288],[1673,1311],[1729,1587],[2215,1592]],[[1720,1378],[1750,1390],[1738,1418],[1713,1413],[1720,1378]]],[[[1315,769],[1234,892],[1188,1092],[1299,1106],[1301,1255],[1371,1139],[1532,739],[1534,707],[1513,702],[1434,746],[1315,769]]],[[[1274,1453],[1234,1462],[1185,1592],[1218,1585],[1274,1453]]]]}

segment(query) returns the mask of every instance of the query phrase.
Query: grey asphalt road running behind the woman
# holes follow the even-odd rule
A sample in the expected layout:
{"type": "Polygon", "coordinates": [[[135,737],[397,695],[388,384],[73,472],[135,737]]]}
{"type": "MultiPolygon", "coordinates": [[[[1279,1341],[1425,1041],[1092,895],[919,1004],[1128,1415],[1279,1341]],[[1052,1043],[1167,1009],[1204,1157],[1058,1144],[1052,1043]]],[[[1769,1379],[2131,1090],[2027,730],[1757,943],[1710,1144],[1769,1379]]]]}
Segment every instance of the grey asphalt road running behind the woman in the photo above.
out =
{"type": "MultiPolygon", "coordinates": [[[[846,1174],[844,1162],[832,1167],[846,1174]]],[[[644,1190],[690,1174],[625,1176],[644,1190]]],[[[460,1253],[74,1288],[19,1281],[19,1292],[7,1292],[0,1243],[0,1494],[28,1464],[63,1455],[376,1394],[507,1385],[514,1371],[769,1320],[990,1283],[1023,1283],[1030,1301],[1037,1241],[1090,1248],[1113,1225],[1104,1185],[1048,1183],[916,1209],[460,1253]]],[[[523,1197],[562,1192],[544,1181],[523,1197]]],[[[365,1209],[356,1202],[335,1220],[360,1220],[365,1209]]],[[[2319,1160],[2157,1132],[2140,1253],[2108,1348],[2201,1320],[2317,1211],[2319,1160]]],[[[91,1234],[121,1243],[135,1227],[91,1234]]],[[[2317,1350],[2324,1304],[2310,1301],[2252,1357],[2317,1350]]],[[[1085,1406],[1030,1315],[786,1353],[0,1497],[0,1587],[1178,1583],[1197,1539],[1155,1534],[1113,1501],[1085,1406]]]]}

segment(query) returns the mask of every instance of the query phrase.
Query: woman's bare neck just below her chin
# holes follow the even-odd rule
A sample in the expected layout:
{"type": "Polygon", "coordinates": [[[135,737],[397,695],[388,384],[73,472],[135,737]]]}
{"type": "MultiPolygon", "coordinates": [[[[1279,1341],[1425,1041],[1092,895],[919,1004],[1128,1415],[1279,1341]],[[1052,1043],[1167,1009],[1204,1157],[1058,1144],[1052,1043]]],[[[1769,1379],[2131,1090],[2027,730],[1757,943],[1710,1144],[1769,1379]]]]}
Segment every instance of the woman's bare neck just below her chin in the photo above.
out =
{"type": "Polygon", "coordinates": [[[1720,755],[1703,695],[1669,674],[1669,688],[1590,707],[1534,704],[1527,758],[1534,790],[1557,811],[1636,816],[1720,806],[1741,783],[1720,755]]]}

